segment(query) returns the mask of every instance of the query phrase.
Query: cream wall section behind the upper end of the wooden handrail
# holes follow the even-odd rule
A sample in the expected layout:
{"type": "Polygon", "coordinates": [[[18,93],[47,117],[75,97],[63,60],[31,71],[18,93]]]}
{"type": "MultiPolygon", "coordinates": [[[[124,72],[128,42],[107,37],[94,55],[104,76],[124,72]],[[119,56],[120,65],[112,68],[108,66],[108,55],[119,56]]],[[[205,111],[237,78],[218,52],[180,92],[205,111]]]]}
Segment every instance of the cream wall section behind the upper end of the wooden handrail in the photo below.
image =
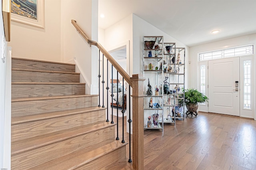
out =
{"type": "Polygon", "coordinates": [[[80,71],[86,73],[86,91],[97,93],[98,49],[78,34],[71,20],[87,34],[89,39],[98,41],[98,0],[61,0],[61,61],[69,62],[76,57],[80,71]]]}

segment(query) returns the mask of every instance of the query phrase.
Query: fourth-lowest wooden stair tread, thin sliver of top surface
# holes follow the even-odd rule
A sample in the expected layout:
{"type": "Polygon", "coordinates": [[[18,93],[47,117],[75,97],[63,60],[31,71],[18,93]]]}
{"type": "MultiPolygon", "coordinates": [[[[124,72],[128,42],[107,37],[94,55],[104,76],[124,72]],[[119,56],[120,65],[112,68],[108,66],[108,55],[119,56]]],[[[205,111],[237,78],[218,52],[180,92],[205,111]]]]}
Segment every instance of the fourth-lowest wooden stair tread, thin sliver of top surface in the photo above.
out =
{"type": "Polygon", "coordinates": [[[49,100],[49,99],[66,99],[66,98],[76,98],[76,97],[90,97],[98,95],[62,95],[62,96],[42,96],[42,97],[20,97],[12,99],[12,102],[20,101],[35,101],[35,100],[49,100]]]}

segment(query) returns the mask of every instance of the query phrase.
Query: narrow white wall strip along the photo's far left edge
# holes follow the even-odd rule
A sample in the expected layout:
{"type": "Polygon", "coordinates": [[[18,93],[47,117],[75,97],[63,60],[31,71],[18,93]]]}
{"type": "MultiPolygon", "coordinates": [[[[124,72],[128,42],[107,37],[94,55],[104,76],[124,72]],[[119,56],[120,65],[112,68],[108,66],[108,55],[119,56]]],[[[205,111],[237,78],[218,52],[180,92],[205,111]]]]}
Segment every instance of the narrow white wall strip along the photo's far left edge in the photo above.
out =
{"type": "MultiPolygon", "coordinates": [[[[0,3],[0,9],[2,9],[2,3],[0,3]]],[[[0,59],[0,169],[10,169],[11,159],[11,68],[10,68],[10,56],[7,55],[7,43],[3,44],[2,38],[4,38],[4,25],[1,10],[0,17],[0,58],[2,55],[2,45],[5,46],[3,51],[6,56],[3,62],[0,59]]]]}

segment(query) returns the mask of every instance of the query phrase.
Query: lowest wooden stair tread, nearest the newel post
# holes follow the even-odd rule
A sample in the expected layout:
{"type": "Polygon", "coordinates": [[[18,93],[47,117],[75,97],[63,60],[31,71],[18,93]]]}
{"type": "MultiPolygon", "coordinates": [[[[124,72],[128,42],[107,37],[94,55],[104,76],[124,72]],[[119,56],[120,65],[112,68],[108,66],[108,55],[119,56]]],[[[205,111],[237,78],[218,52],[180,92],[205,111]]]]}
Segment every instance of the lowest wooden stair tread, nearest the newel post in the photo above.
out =
{"type": "Polygon", "coordinates": [[[32,169],[76,169],[114,150],[117,150],[126,144],[128,143],[122,143],[120,140],[106,140],[90,147],[90,149],[82,149],[77,152],[67,154],[60,158],[35,166],[32,169]]]}

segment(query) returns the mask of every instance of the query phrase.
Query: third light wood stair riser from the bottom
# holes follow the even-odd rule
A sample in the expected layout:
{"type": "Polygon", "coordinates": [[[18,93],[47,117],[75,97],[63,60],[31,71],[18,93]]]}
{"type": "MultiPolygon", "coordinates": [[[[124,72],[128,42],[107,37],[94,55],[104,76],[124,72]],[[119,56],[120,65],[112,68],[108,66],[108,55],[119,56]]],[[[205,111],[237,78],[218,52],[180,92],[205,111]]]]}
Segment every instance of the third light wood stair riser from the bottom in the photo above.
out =
{"type": "Polygon", "coordinates": [[[12,125],[12,141],[106,120],[106,110],[12,125]]]}

